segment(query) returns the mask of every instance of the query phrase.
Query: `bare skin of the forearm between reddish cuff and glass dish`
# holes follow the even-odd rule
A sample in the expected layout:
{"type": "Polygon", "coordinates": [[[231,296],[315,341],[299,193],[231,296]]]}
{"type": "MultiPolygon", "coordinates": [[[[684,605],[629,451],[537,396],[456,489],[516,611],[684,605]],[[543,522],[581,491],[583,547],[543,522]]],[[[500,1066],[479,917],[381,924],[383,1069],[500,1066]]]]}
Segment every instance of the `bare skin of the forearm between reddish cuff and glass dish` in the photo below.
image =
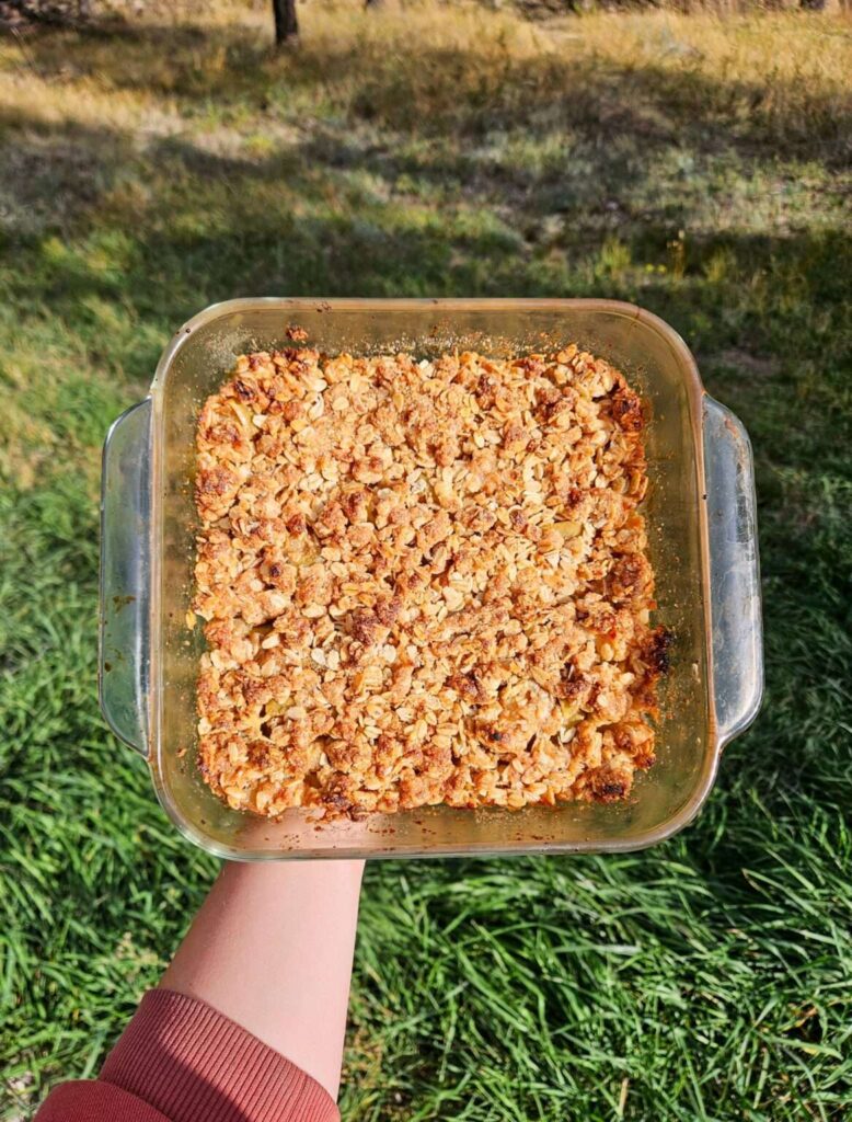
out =
{"type": "Polygon", "coordinates": [[[160,986],[340,1083],[363,862],[228,864],[160,986]]]}

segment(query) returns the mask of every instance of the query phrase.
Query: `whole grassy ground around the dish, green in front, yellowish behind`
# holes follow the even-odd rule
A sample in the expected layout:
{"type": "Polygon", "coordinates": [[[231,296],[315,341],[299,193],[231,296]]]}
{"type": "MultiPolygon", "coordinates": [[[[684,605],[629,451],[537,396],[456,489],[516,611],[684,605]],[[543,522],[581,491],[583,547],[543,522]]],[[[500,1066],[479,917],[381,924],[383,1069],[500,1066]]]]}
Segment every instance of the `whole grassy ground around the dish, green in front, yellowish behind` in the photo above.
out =
{"type": "Polygon", "coordinates": [[[96,1072],[214,874],[99,716],[99,445],[249,294],[635,300],[756,450],[767,699],[706,809],[631,856],[370,867],[344,1118],[852,1111],[850,25],[452,11],[416,64],[313,6],[279,59],[239,8],[0,40],[3,1122],[96,1072]]]}

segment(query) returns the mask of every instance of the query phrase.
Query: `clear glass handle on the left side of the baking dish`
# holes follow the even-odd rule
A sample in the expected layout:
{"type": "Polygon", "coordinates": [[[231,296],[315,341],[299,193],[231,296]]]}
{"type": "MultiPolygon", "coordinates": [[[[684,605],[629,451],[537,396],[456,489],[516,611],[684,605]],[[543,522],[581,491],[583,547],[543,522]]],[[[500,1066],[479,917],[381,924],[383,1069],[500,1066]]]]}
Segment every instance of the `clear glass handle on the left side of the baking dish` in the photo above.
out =
{"type": "Polygon", "coordinates": [[[112,732],[148,752],[151,579],[151,399],[113,422],[101,475],[98,687],[112,732]]]}

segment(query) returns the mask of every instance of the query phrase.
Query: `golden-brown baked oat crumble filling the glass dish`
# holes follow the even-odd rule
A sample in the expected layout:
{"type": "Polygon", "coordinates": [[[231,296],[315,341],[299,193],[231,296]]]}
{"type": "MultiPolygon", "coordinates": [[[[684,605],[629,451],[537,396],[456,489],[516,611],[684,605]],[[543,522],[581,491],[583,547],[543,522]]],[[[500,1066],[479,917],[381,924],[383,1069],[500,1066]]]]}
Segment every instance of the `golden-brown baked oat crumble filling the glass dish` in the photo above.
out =
{"type": "Polygon", "coordinates": [[[666,662],[641,430],[575,347],[240,358],[197,431],[211,788],[270,816],[627,795],[666,662]]]}

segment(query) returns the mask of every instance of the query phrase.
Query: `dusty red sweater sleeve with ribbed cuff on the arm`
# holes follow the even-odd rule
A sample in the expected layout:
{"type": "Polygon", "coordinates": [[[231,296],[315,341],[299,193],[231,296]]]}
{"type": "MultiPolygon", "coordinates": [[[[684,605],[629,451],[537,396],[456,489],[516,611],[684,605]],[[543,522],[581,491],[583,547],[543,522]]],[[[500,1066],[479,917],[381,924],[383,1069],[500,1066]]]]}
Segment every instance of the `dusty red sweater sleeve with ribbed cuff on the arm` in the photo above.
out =
{"type": "Polygon", "coordinates": [[[64,1083],[34,1122],[340,1122],[309,1075],[246,1029],[151,990],[94,1080],[64,1083]]]}

